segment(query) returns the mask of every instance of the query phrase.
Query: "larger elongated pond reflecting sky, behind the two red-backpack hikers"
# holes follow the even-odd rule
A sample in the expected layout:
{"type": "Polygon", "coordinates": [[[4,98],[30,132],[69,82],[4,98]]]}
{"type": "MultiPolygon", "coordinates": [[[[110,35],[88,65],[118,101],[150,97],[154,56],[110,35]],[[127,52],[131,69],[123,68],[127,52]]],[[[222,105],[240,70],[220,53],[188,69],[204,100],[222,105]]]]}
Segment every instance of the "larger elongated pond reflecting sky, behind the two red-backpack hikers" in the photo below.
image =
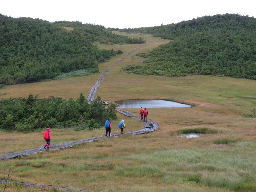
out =
{"type": "Polygon", "coordinates": [[[124,100],[117,103],[119,104],[118,108],[192,107],[191,105],[166,100],[124,100]]]}

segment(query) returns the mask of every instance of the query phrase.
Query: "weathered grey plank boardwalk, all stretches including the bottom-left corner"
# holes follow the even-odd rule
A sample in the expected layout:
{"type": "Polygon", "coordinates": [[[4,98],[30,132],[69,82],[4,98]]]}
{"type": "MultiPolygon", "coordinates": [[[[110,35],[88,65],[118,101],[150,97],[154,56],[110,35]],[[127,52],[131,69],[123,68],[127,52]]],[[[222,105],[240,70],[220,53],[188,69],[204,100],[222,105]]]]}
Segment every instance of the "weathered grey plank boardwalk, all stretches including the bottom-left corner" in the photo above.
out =
{"type": "MultiPolygon", "coordinates": [[[[151,42],[151,43],[153,43],[153,42],[151,42]]],[[[95,94],[97,92],[97,88],[99,87],[101,82],[104,80],[104,78],[107,76],[108,72],[113,67],[115,67],[118,63],[120,63],[122,60],[124,60],[126,57],[128,57],[132,52],[134,52],[134,51],[136,51],[136,50],[138,50],[141,47],[146,46],[146,45],[148,45],[148,44],[141,45],[138,48],[132,50],[131,52],[126,54],[123,58],[116,61],[116,63],[114,63],[112,66],[108,67],[107,70],[103,73],[103,75],[100,76],[99,80],[93,85],[93,87],[92,87],[92,89],[91,89],[91,91],[90,91],[90,93],[87,97],[87,102],[88,103],[93,102],[95,94]]],[[[138,131],[126,132],[124,134],[129,134],[129,135],[145,134],[145,133],[153,132],[159,127],[159,125],[151,119],[148,119],[148,122],[151,123],[149,125],[148,122],[142,121],[140,119],[140,116],[138,116],[134,113],[131,113],[129,111],[123,111],[123,110],[120,110],[120,109],[116,109],[116,111],[125,115],[125,116],[138,119],[139,121],[143,122],[143,124],[144,124],[145,128],[140,129],[138,131]]],[[[113,135],[111,134],[111,137],[109,137],[108,139],[118,137],[119,135],[120,134],[113,134],[113,135]]],[[[102,138],[105,138],[105,136],[92,137],[92,138],[87,138],[87,139],[81,139],[81,140],[75,140],[75,141],[69,141],[69,142],[65,142],[65,143],[55,144],[55,145],[51,145],[51,148],[49,150],[72,148],[74,145],[78,145],[78,144],[81,144],[81,143],[94,142],[94,141],[97,141],[97,140],[102,139],[102,138]]],[[[28,156],[28,155],[31,155],[31,154],[36,154],[36,153],[41,153],[41,152],[44,152],[44,148],[27,149],[27,150],[24,150],[24,151],[2,154],[2,155],[0,155],[0,159],[4,160],[4,159],[10,159],[10,158],[19,158],[21,156],[28,156]]],[[[0,179],[0,182],[6,182],[6,180],[5,179],[0,179]]],[[[20,182],[19,184],[22,185],[22,186],[25,186],[25,187],[28,186],[28,187],[44,188],[45,189],[44,191],[47,191],[47,188],[56,188],[57,187],[57,188],[61,188],[63,190],[77,190],[77,191],[81,191],[81,192],[90,192],[90,191],[87,191],[87,190],[84,190],[84,189],[80,190],[80,189],[75,189],[75,188],[68,188],[67,186],[41,185],[41,184],[37,184],[37,183],[33,184],[33,183],[25,183],[25,182],[20,182]]]]}

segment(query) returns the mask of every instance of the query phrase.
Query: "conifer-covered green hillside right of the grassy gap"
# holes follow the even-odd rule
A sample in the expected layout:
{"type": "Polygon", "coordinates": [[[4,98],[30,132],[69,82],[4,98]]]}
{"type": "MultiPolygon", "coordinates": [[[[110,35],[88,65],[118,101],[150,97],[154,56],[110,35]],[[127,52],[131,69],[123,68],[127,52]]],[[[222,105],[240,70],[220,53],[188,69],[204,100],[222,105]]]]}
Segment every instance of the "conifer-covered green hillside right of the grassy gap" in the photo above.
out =
{"type": "Polygon", "coordinates": [[[256,80],[256,19],[238,14],[204,16],[177,24],[123,29],[172,40],[128,66],[140,75],[218,75],[256,80]]]}

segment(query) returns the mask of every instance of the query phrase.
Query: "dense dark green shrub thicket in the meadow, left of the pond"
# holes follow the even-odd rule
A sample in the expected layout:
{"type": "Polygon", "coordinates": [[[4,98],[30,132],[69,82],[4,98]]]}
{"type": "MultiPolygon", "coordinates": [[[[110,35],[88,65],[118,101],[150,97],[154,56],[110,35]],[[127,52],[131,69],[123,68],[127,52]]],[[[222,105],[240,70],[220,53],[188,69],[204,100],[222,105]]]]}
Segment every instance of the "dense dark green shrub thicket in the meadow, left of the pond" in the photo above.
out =
{"type": "Polygon", "coordinates": [[[73,127],[76,130],[98,129],[106,119],[117,119],[116,106],[108,108],[100,96],[87,103],[84,95],[66,100],[59,97],[38,99],[29,94],[28,98],[0,99],[0,129],[28,131],[46,127],[73,127]]]}

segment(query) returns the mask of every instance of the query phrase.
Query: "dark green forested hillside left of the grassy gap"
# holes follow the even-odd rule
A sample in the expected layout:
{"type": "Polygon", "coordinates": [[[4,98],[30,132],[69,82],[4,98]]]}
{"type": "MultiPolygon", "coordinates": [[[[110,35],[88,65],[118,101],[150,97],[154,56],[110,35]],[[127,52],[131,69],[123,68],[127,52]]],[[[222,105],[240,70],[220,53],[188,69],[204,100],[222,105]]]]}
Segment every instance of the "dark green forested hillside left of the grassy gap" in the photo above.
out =
{"type": "Polygon", "coordinates": [[[100,50],[94,42],[145,43],[80,22],[11,18],[0,14],[0,84],[31,83],[60,73],[86,69],[98,72],[99,62],[121,50],[100,50]],[[64,27],[73,27],[67,31],[64,27]]]}

